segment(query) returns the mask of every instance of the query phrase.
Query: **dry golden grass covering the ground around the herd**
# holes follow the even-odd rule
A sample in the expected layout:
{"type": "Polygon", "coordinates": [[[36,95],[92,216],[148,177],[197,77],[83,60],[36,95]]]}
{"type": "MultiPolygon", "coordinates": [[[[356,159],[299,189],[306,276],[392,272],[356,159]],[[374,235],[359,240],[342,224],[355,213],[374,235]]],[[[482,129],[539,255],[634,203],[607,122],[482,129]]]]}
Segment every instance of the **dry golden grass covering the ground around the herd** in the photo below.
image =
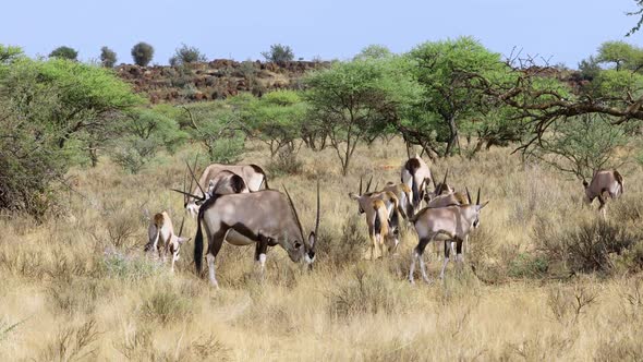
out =
{"type": "MultiPolygon", "coordinates": [[[[393,142],[395,143],[395,142],[393,142]]],[[[267,164],[260,148],[246,160],[267,164]]],[[[641,360],[643,279],[631,269],[636,250],[608,253],[609,272],[569,275],[566,260],[542,251],[537,226],[577,230],[596,221],[581,207],[577,181],[522,165],[508,149],[475,160],[452,158],[450,183],[482,186],[490,204],[466,245],[466,267],[425,254],[434,282],[407,281],[415,237],[403,234],[393,260],[366,261],[366,228],[348,197],[361,174],[379,184],[398,180],[405,153],[362,148],[349,177],[335,155],[302,149],[301,173],[272,178],[289,185],[305,227],[313,226],[314,181],[320,179],[319,256],[307,272],[279,248],[268,253],[260,282],[252,248],[223,246],[221,290],[193,273],[191,245],[174,275],[142,254],[150,212],[182,215],[183,158],[131,176],[109,161],[73,171],[78,191],[68,214],[34,226],[0,217],[0,360],[641,360]]],[[[612,218],[641,226],[638,168],[622,170],[627,194],[609,205],[612,218]],[[629,180],[629,181],[628,181],[629,180]]],[[[179,222],[177,220],[175,222],[179,222]]],[[[195,224],[186,221],[186,232],[195,224]]],[[[641,232],[632,232],[641,238],[641,232]]],[[[440,248],[437,248],[441,250],[440,248]]],[[[643,263],[641,263],[643,265],[643,263]]]]}

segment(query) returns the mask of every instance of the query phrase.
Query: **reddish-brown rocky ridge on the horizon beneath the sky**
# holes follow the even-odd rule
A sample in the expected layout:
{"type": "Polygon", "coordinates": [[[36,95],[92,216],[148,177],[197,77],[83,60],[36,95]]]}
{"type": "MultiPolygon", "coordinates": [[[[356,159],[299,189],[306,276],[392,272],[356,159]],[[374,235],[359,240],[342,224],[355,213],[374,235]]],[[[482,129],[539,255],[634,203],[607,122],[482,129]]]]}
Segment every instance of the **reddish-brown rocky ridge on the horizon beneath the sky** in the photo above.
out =
{"type": "Polygon", "coordinates": [[[239,92],[260,95],[279,88],[300,88],[304,72],[330,62],[292,61],[269,63],[217,59],[180,67],[121,64],[116,71],[145,94],[153,104],[223,99],[239,92]]]}

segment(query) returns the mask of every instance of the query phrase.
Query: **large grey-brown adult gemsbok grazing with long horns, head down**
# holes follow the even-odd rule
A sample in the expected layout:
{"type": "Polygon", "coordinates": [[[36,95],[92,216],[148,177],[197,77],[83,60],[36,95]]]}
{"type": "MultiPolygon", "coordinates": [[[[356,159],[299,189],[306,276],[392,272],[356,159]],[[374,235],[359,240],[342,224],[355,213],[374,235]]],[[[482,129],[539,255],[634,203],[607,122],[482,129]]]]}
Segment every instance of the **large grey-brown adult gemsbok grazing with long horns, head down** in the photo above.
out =
{"type": "Polygon", "coordinates": [[[253,193],[214,194],[204,200],[197,216],[194,238],[194,264],[201,275],[203,265],[203,230],[208,239],[206,261],[210,283],[218,288],[215,260],[223,241],[236,246],[256,244],[255,261],[262,274],[265,268],[268,246],[280,245],[290,258],[298,263],[302,258],[312,267],[315,261],[315,241],[319,228],[319,183],[317,183],[317,216],[315,229],[304,237],[292,197],[277,190],[260,190],[253,193]],[[235,238],[234,233],[242,237],[235,238]]]}

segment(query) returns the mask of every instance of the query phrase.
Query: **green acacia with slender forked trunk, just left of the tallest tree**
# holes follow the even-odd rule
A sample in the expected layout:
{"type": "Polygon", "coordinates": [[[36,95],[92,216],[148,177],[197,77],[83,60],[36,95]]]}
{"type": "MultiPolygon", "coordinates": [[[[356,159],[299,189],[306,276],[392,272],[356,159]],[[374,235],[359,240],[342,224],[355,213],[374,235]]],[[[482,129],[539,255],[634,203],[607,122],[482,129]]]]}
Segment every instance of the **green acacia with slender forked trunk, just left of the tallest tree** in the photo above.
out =
{"type": "Polygon", "coordinates": [[[305,79],[310,122],[328,135],[344,176],[360,141],[374,129],[395,124],[417,99],[420,88],[403,67],[397,67],[401,61],[391,58],[337,62],[305,79]]]}

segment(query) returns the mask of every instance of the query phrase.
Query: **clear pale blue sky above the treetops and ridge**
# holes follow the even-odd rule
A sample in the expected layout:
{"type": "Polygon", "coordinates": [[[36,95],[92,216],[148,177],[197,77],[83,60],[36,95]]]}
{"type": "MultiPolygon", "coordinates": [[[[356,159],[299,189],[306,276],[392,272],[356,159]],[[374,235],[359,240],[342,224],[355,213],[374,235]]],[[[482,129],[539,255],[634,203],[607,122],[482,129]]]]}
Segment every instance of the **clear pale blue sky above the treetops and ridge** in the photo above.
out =
{"type": "Polygon", "coordinates": [[[66,45],[82,60],[108,46],[120,63],[132,62],[130,50],[143,40],[156,49],[153,62],[165,64],[181,43],[208,59],[262,59],[275,43],[298,58],[348,59],[369,44],[402,52],[472,35],[504,55],[517,47],[575,68],[603,41],[641,46],[643,32],[623,37],[636,22],[624,15],[631,10],[633,0],[20,0],[2,4],[0,44],[29,56],[66,45]]]}

